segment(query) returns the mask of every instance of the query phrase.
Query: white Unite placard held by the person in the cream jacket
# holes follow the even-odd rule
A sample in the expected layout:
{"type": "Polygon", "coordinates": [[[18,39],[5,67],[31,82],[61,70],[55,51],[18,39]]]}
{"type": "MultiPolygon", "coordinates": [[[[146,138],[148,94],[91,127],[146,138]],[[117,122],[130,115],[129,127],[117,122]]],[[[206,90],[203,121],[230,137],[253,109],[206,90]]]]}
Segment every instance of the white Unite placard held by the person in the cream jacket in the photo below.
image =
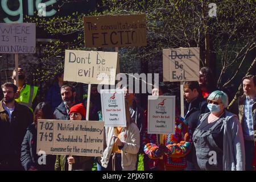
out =
{"type": "Polygon", "coordinates": [[[122,89],[101,90],[104,126],[126,127],[125,97],[122,89]]]}

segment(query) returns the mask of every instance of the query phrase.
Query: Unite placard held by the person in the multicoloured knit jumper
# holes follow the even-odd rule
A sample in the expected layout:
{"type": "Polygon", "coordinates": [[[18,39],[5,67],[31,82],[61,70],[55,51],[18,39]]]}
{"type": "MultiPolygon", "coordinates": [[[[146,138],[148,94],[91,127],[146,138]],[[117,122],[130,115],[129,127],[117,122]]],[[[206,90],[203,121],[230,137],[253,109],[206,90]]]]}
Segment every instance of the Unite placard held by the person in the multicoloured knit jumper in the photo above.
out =
{"type": "Polygon", "coordinates": [[[175,133],[175,96],[148,96],[148,134],[175,133]]]}

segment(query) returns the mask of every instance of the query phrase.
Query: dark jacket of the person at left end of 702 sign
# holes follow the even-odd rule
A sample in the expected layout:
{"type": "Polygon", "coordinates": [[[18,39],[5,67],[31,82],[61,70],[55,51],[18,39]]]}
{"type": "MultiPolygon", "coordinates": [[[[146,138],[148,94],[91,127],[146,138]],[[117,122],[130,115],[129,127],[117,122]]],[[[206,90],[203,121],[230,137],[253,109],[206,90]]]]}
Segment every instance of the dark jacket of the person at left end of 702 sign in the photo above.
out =
{"type": "MultiPolygon", "coordinates": [[[[34,166],[39,171],[54,171],[55,155],[46,156],[46,164],[38,164],[38,158],[42,155],[36,154],[37,131],[35,124],[32,123],[27,129],[27,133],[22,142],[21,157],[22,166],[27,171],[34,166]]],[[[42,160],[39,160],[42,162],[42,160]]]]}

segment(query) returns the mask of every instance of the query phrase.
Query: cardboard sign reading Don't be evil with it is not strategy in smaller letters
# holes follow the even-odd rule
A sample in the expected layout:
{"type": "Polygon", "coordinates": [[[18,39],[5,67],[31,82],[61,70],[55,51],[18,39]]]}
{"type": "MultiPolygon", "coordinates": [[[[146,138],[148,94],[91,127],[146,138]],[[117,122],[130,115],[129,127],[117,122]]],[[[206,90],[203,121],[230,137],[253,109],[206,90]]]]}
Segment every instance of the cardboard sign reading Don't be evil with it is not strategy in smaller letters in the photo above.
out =
{"type": "Polygon", "coordinates": [[[115,84],[117,52],[65,50],[64,80],[115,84]]]}

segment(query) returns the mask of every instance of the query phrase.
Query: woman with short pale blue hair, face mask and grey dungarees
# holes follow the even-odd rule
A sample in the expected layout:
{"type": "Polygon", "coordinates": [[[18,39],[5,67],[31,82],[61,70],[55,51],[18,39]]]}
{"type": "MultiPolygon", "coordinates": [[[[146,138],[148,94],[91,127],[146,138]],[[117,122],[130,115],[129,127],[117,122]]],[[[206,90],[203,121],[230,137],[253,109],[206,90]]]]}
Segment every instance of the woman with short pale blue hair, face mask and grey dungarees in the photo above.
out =
{"type": "Polygon", "coordinates": [[[200,169],[245,170],[242,127],[237,115],[225,110],[228,96],[216,90],[207,101],[210,113],[200,115],[200,124],[193,133],[200,169]]]}

